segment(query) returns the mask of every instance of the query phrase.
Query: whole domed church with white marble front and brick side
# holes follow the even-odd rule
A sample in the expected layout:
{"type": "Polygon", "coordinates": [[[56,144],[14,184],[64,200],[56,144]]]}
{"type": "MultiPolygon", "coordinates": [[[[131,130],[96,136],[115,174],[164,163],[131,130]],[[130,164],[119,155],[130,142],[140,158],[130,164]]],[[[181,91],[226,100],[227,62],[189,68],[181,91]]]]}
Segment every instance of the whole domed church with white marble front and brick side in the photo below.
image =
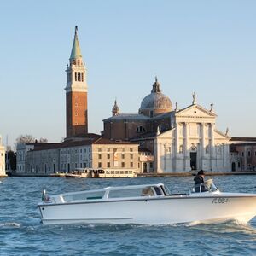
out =
{"type": "Polygon", "coordinates": [[[197,104],[195,93],[192,104],[172,109],[171,100],[162,94],[157,79],[138,113],[120,113],[117,102],[113,116],[104,119],[104,137],[130,140],[140,144],[141,150],[154,155],[151,168],[143,172],[229,172],[229,140],[227,133],[216,128],[217,115],[197,104]]]}

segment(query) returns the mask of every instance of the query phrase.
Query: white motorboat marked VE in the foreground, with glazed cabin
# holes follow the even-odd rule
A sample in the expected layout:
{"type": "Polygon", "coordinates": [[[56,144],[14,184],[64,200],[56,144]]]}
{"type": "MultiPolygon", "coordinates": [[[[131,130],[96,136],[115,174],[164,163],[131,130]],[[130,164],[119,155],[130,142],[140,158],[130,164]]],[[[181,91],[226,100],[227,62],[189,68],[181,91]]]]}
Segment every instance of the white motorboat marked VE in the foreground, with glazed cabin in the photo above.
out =
{"type": "Polygon", "coordinates": [[[236,220],[256,215],[256,194],[190,189],[171,194],[162,184],[108,187],[43,196],[38,204],[43,224],[182,224],[236,220]]]}

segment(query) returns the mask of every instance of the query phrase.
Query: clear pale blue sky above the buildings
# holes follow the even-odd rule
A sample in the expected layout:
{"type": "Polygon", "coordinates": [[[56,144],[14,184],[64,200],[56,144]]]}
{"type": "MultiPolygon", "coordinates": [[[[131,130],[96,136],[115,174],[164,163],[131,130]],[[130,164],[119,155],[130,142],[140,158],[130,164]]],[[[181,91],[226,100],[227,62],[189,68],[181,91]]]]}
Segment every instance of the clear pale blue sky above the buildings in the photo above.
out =
{"type": "MultiPolygon", "coordinates": [[[[89,132],[116,99],[137,113],[157,75],[172,106],[217,113],[231,137],[256,137],[256,1],[1,1],[0,134],[59,143],[74,27],[87,68],[89,132]]],[[[7,140],[8,138],[8,140],[7,140]]]]}

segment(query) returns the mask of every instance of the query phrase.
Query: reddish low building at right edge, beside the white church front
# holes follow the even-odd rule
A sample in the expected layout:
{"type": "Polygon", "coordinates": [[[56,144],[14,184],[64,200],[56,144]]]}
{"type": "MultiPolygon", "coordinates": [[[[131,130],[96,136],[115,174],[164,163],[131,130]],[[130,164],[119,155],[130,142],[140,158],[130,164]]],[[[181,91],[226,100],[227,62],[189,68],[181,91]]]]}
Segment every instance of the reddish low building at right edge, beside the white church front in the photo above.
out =
{"type": "Polygon", "coordinates": [[[231,137],[230,170],[233,172],[256,171],[255,137],[231,137]]]}

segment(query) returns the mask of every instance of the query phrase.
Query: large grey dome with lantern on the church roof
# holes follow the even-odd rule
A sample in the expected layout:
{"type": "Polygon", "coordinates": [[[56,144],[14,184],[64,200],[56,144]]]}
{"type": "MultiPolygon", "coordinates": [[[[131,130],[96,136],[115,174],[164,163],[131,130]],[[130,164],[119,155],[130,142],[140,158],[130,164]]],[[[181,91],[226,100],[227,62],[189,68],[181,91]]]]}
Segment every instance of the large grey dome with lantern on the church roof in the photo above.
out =
{"type": "Polygon", "coordinates": [[[153,117],[170,111],[172,111],[172,102],[168,96],[161,93],[160,83],[155,78],[151,93],[144,97],[139,113],[153,117]]]}

